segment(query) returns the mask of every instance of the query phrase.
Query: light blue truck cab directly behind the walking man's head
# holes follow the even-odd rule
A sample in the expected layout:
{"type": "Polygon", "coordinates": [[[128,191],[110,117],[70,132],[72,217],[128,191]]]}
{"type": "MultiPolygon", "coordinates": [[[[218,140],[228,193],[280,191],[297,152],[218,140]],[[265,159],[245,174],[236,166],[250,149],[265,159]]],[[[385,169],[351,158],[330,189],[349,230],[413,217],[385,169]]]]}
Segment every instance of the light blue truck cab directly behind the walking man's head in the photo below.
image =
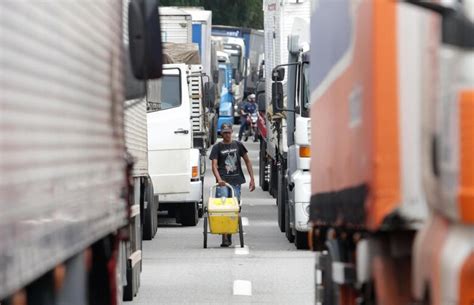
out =
{"type": "Polygon", "coordinates": [[[234,96],[232,95],[232,64],[219,63],[219,79],[222,80],[221,97],[219,104],[219,118],[217,120],[217,132],[220,134],[224,123],[234,123],[234,96]]]}

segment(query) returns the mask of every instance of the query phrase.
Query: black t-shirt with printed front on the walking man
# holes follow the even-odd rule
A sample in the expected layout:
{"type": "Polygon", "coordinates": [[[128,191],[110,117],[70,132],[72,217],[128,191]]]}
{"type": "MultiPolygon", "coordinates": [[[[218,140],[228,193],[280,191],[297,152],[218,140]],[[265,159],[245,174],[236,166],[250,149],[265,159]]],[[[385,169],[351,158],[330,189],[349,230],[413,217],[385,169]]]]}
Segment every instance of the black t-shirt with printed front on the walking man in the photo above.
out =
{"type": "Polygon", "coordinates": [[[245,183],[240,158],[246,153],[247,149],[238,141],[229,144],[219,142],[212,147],[209,159],[217,159],[217,169],[222,180],[231,185],[240,185],[245,183]]]}

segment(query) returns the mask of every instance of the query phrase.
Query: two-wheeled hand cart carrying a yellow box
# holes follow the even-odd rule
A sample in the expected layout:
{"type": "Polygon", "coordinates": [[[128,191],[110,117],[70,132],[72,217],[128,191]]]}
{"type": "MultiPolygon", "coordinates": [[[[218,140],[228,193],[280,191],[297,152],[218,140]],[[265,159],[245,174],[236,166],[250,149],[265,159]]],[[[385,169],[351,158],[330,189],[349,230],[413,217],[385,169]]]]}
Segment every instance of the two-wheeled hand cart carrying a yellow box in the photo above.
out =
{"type": "Polygon", "coordinates": [[[244,232],[242,229],[242,218],[240,217],[240,204],[235,197],[234,188],[227,184],[230,197],[216,197],[217,187],[211,186],[209,200],[204,206],[204,248],[207,248],[207,235],[210,234],[236,234],[239,233],[240,247],[244,247],[244,232]],[[209,230],[208,230],[209,227],[209,230]]]}

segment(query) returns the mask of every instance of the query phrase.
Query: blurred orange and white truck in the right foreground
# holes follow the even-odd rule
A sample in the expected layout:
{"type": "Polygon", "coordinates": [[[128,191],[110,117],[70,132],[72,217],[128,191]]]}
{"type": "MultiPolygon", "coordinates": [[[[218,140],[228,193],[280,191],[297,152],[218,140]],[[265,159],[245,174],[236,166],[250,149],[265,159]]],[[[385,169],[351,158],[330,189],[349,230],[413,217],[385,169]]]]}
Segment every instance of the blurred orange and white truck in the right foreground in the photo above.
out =
{"type": "Polygon", "coordinates": [[[317,304],[474,301],[473,20],[472,1],[314,7],[317,304]]]}

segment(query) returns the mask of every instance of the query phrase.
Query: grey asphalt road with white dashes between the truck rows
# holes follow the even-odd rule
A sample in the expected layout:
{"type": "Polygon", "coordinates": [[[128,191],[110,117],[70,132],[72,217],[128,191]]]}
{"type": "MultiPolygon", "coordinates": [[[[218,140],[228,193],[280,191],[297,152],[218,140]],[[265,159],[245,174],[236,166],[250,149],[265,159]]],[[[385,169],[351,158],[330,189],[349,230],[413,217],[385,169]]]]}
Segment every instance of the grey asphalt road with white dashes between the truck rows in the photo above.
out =
{"type": "MultiPolygon", "coordinates": [[[[242,186],[246,246],[234,235],[232,247],[220,248],[220,236],[211,235],[203,249],[202,219],[181,227],[161,218],[143,245],[140,291],[126,304],[314,304],[314,254],[297,251],[280,233],[275,199],[258,187],[258,143],[244,144],[257,174],[254,192],[242,186]]],[[[213,182],[208,166],[205,198],[213,182]]]]}

